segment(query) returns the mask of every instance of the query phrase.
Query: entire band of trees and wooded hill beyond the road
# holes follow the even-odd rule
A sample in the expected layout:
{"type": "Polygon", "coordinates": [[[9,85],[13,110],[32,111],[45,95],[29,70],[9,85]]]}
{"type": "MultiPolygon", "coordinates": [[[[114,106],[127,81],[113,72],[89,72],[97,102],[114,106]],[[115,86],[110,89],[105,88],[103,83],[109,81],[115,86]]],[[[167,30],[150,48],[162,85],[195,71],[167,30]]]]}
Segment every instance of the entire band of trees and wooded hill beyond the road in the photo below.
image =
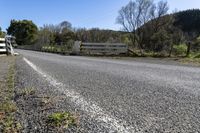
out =
{"type": "Polygon", "coordinates": [[[70,48],[79,40],[126,43],[137,55],[189,56],[199,51],[200,10],[168,12],[167,1],[133,0],[119,10],[116,18],[122,31],[74,28],[68,21],[38,28],[30,20],[11,20],[7,33],[16,37],[18,45],[36,49],[55,45],[70,48]]]}

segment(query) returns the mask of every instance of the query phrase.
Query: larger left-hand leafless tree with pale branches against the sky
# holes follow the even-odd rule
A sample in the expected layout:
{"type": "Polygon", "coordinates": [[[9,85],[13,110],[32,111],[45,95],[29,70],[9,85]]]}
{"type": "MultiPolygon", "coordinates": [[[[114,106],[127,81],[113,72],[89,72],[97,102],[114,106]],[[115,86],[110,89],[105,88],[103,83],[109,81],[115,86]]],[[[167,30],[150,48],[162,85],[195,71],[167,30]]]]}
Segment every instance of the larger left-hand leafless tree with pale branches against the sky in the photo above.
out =
{"type": "MultiPolygon", "coordinates": [[[[152,5],[153,0],[135,0],[130,1],[119,11],[117,23],[121,24],[125,31],[131,33],[133,45],[136,45],[137,29],[150,19],[149,13],[152,5]]],[[[140,44],[139,47],[141,49],[140,44]]]]}

